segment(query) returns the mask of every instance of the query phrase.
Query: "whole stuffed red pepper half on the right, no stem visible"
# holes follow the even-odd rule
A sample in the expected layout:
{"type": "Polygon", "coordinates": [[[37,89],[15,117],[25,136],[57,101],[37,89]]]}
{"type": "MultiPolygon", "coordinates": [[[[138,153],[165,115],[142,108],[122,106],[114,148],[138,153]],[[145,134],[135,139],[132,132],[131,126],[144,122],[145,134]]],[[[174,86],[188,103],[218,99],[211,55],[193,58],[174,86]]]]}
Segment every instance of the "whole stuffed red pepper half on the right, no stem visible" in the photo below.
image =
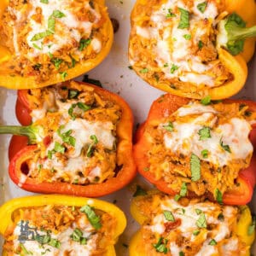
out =
{"type": "Polygon", "coordinates": [[[244,205],[256,178],[256,103],[166,94],[137,131],[138,172],[161,191],[244,205]]]}

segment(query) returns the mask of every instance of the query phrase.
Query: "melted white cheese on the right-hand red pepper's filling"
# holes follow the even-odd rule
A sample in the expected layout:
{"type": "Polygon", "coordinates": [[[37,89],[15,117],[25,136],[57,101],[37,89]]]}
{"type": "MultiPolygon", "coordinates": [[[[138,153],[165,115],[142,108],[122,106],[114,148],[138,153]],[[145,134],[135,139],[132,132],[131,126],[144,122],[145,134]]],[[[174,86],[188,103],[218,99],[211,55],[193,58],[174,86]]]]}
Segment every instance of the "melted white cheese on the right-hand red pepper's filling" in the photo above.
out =
{"type": "MultiPolygon", "coordinates": [[[[210,153],[207,161],[221,167],[228,165],[231,160],[246,159],[248,155],[253,153],[253,145],[248,139],[251,125],[247,120],[239,118],[232,118],[228,123],[217,125],[216,113],[214,108],[201,104],[179,108],[174,116],[189,117],[194,114],[195,118],[189,122],[173,122],[174,131],[164,135],[166,148],[184,155],[194,153],[201,160],[205,160],[201,151],[207,149],[210,153]],[[206,126],[211,128],[211,137],[200,140],[199,131],[206,126]],[[230,146],[231,153],[221,147],[220,141],[224,145],[230,146]]],[[[162,126],[164,125],[167,124],[162,126]]]]}

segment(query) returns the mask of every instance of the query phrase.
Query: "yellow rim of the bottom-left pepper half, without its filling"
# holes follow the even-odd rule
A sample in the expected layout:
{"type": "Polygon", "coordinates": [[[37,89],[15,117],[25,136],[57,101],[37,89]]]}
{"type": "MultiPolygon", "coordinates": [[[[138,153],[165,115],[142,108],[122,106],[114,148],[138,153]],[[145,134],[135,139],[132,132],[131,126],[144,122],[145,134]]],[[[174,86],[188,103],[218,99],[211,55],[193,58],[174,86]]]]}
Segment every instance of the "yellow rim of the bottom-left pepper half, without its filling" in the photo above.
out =
{"type": "MultiPolygon", "coordinates": [[[[69,207],[83,207],[89,205],[95,209],[103,212],[108,212],[114,218],[117,219],[117,224],[114,230],[114,239],[118,240],[119,235],[125,230],[126,218],[124,212],[118,207],[114,206],[107,201],[100,201],[96,199],[90,199],[85,197],[74,197],[67,195],[34,195],[15,198],[6,202],[0,207],[0,234],[4,234],[9,224],[13,223],[13,212],[21,207],[42,207],[44,205],[55,206],[69,206],[69,207]]],[[[115,256],[115,250],[113,245],[109,245],[107,248],[106,256],[115,256]]],[[[3,256],[8,256],[3,252],[3,256]]]]}

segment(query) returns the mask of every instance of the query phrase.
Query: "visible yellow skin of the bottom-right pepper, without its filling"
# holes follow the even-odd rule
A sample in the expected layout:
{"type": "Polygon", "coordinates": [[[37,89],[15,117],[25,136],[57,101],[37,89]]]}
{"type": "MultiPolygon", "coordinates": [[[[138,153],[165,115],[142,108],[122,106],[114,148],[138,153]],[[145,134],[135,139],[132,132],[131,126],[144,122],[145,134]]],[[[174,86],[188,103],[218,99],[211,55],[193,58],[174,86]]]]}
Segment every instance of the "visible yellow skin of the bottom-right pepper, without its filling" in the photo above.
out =
{"type": "MultiPolygon", "coordinates": [[[[147,192],[148,195],[158,194],[157,190],[150,190],[147,192]]],[[[131,201],[131,215],[133,218],[136,219],[138,224],[143,224],[144,221],[147,219],[143,216],[140,209],[137,207],[137,201],[142,200],[143,195],[139,195],[135,197],[131,201]]],[[[253,231],[252,235],[247,234],[248,227],[252,224],[252,215],[247,206],[240,207],[241,215],[239,221],[236,224],[236,235],[240,237],[241,241],[245,242],[247,245],[247,252],[244,256],[250,255],[250,247],[253,244],[253,240],[255,238],[255,231],[253,231]]],[[[137,232],[131,237],[130,246],[129,246],[129,253],[131,256],[146,256],[143,247],[141,246],[142,232],[141,230],[137,230],[137,232]]],[[[163,254],[164,255],[164,254],[163,254]]]]}

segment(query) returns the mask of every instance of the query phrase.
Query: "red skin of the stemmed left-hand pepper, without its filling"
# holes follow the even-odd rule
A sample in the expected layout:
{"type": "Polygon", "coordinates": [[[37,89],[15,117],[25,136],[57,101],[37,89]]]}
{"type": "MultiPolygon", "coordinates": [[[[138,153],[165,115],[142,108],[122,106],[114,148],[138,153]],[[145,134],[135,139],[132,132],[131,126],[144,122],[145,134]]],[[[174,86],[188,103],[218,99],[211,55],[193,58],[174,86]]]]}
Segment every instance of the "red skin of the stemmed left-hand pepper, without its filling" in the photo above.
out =
{"type": "MultiPolygon", "coordinates": [[[[104,90],[100,87],[93,86],[96,92],[105,99],[109,101],[116,102],[122,108],[122,117],[119,121],[117,127],[117,134],[121,140],[117,147],[117,164],[120,166],[120,170],[117,173],[116,177],[109,178],[104,183],[98,184],[89,184],[89,185],[79,185],[71,183],[61,183],[61,182],[52,182],[52,183],[38,183],[32,177],[26,177],[29,170],[26,165],[26,160],[29,160],[33,156],[33,152],[37,149],[37,145],[26,145],[24,142],[21,143],[23,137],[15,137],[13,143],[10,143],[9,152],[15,153],[15,147],[20,150],[16,154],[9,154],[9,176],[20,188],[26,189],[27,191],[43,193],[43,194],[64,194],[64,195],[78,195],[86,197],[99,197],[102,195],[108,195],[113,193],[116,190],[122,189],[126,184],[130,183],[133,177],[136,176],[136,166],[134,160],[132,159],[132,125],[133,117],[131,113],[131,108],[128,104],[121,99],[119,96],[104,90]],[[15,143],[20,144],[15,145],[15,143]],[[12,148],[12,149],[11,149],[12,148]],[[24,182],[23,182],[24,181],[24,182]]],[[[28,90],[20,90],[20,102],[22,102],[22,108],[28,108],[28,103],[26,103],[26,93],[28,90]],[[20,92],[21,91],[21,92],[20,92]],[[25,102],[25,103],[24,103],[25,102]]],[[[22,122],[22,119],[20,119],[22,122]]],[[[22,123],[21,123],[22,124],[22,123]]]]}

